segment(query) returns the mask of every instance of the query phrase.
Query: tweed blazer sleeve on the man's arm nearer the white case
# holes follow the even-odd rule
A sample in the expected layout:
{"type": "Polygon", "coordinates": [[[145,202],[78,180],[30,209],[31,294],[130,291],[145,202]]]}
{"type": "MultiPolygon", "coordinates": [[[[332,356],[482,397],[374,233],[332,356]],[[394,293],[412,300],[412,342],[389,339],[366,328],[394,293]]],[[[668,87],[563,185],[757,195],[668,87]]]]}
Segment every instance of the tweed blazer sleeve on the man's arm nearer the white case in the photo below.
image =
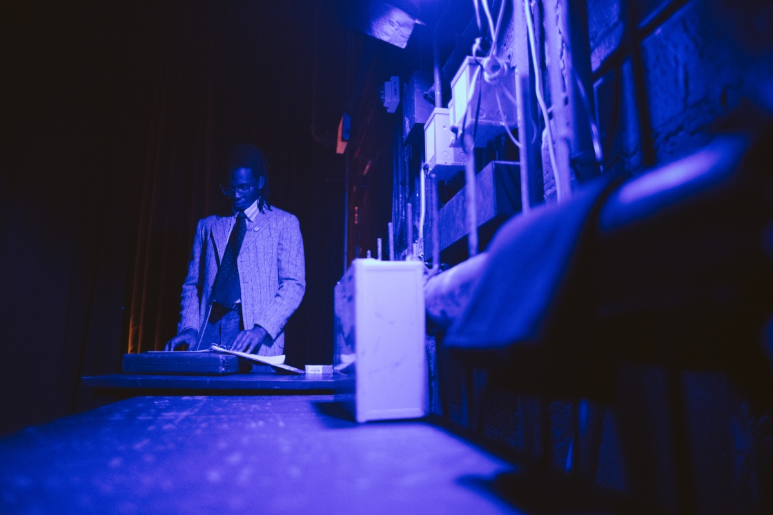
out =
{"type": "Polygon", "coordinates": [[[298,309],[306,290],[306,269],[303,256],[303,238],[298,219],[291,215],[283,224],[278,242],[279,288],[256,324],[263,327],[271,339],[281,333],[288,318],[298,309]]]}

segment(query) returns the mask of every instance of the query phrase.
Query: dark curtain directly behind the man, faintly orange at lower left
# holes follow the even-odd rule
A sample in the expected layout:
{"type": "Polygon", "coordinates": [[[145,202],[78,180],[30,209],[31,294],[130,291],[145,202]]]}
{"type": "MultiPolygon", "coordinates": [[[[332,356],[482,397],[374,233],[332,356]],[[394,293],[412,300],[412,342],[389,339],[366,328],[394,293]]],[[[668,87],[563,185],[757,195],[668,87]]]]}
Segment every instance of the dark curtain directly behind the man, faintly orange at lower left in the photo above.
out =
{"type": "Polygon", "coordinates": [[[298,216],[304,237],[307,290],[286,328],[288,361],[332,361],[343,166],[310,130],[314,7],[198,2],[166,13],[130,273],[128,351],[161,349],[175,334],[196,222],[228,212],[218,188],[224,156],[247,142],[266,154],[270,202],[298,216]]]}

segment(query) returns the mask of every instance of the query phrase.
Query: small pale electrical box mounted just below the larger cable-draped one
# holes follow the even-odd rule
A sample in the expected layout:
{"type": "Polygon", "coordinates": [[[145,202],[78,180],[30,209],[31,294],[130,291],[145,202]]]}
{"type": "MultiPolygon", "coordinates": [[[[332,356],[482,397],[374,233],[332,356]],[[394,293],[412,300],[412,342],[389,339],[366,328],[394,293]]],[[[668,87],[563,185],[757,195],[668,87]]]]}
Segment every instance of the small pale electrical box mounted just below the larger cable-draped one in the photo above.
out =
{"type": "Polygon", "coordinates": [[[459,147],[451,146],[451,123],[448,109],[435,107],[424,124],[424,161],[438,179],[450,179],[465,169],[468,155],[459,147]]]}

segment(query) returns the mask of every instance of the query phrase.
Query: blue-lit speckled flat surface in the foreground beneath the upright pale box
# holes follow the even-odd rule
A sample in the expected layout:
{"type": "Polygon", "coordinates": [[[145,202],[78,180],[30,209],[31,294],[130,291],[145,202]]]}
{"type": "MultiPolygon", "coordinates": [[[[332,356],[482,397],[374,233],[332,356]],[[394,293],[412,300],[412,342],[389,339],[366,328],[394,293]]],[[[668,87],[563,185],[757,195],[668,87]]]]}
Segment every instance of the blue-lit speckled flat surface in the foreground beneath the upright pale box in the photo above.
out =
{"type": "Polygon", "coordinates": [[[518,513],[512,470],[424,422],[332,397],[138,397],[0,440],[0,513],[518,513]]]}

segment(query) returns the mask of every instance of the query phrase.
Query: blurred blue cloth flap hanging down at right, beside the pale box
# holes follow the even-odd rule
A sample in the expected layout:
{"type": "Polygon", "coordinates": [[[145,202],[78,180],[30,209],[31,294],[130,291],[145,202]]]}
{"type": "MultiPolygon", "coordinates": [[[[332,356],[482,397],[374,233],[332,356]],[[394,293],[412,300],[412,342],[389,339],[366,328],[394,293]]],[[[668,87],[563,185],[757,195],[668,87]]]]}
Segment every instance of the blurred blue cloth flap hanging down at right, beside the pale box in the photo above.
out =
{"type": "Polygon", "coordinates": [[[481,280],[443,344],[500,348],[538,340],[588,216],[611,180],[599,178],[563,204],[541,205],[502,225],[481,280]]]}

